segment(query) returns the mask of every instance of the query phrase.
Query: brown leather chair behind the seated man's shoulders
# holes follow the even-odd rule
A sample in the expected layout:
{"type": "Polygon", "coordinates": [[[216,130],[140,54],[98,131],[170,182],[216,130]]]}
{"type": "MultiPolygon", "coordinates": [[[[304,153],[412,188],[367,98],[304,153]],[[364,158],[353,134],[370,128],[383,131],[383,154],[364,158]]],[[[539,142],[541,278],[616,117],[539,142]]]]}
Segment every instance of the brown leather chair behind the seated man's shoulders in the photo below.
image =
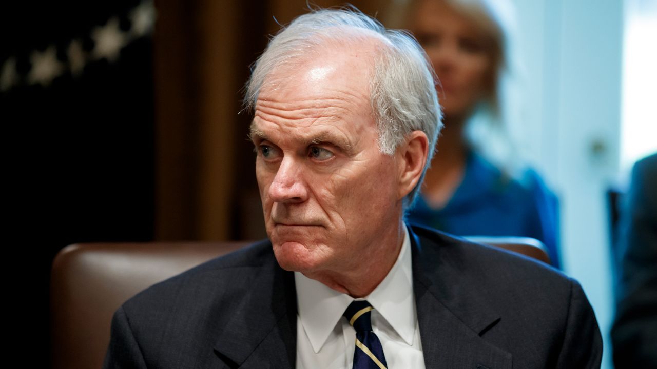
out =
{"type": "MultiPolygon", "coordinates": [[[[470,237],[549,263],[533,238],[470,237]]],[[[100,368],[112,315],[148,286],[248,242],[76,244],[53,263],[51,318],[53,368],[100,368]]]]}

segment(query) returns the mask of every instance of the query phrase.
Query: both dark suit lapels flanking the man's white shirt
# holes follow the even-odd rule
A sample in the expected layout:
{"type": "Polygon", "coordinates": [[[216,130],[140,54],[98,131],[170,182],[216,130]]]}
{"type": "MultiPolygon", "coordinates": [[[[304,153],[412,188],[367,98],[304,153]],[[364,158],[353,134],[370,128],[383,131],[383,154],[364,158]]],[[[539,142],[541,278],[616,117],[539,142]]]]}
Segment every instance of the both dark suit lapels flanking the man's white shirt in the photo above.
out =
{"type": "MultiPolygon", "coordinates": [[[[448,247],[409,229],[413,253],[413,290],[424,364],[432,368],[511,368],[512,357],[480,335],[499,315],[486,308],[476,286],[463,282],[458,268],[445,263],[448,247]]],[[[447,255],[449,259],[449,255],[447,255]]],[[[215,353],[229,368],[296,366],[296,290],[294,274],[271,261],[254,271],[243,287],[236,313],[217,338],[215,353]]],[[[242,281],[235,281],[240,283],[242,281]]],[[[243,282],[242,282],[243,283],[243,282]]]]}

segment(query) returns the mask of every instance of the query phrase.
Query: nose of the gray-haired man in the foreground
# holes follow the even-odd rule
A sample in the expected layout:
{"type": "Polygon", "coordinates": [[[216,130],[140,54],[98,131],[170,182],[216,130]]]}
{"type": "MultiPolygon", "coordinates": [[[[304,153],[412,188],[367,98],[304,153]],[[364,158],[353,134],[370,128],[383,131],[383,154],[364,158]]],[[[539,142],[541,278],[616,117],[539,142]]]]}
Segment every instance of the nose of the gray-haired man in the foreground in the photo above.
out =
{"type": "Polygon", "coordinates": [[[269,198],[273,202],[296,204],[306,201],[307,196],[302,164],[286,156],[269,186],[269,198]]]}

